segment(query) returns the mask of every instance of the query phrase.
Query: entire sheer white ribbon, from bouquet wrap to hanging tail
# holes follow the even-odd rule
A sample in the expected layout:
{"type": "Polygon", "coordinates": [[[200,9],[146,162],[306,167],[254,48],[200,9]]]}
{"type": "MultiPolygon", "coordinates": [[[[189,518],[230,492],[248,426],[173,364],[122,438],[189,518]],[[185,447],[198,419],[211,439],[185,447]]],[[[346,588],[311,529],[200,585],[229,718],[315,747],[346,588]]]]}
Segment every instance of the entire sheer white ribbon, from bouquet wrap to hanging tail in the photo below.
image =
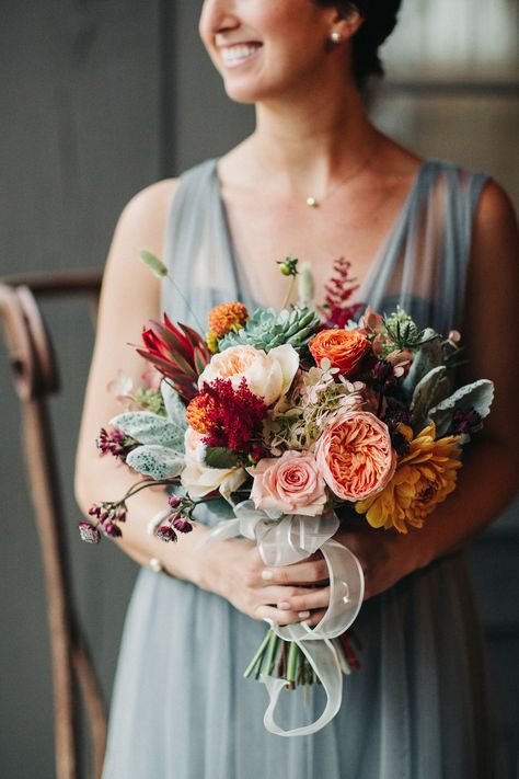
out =
{"type": "Polygon", "coordinates": [[[203,543],[221,541],[237,536],[255,540],[266,565],[290,565],[305,560],[320,550],[328,569],[330,605],[314,627],[303,622],[278,626],[272,630],[285,641],[295,641],[319,676],[326,694],[326,706],[321,717],[310,725],[282,730],[274,712],[286,679],[262,674],[269,704],[264,724],[267,731],[281,736],[310,735],[326,725],[338,712],[343,695],[339,661],[332,639],[337,638],[355,621],[364,599],[364,574],[359,561],[332,536],[339,527],[335,512],[309,517],[298,514],[268,515],[254,507],[252,501],[234,506],[235,519],[224,519],[217,525],[203,543]]]}

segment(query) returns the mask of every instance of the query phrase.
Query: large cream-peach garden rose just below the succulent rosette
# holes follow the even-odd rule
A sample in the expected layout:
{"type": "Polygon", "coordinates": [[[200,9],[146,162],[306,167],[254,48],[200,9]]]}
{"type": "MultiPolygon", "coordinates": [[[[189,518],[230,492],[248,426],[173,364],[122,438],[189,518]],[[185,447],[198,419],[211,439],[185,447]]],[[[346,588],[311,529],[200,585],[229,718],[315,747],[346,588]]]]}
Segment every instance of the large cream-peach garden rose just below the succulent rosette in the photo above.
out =
{"type": "Polygon", "coordinates": [[[200,374],[198,387],[221,378],[230,379],[238,390],[245,378],[251,392],[263,398],[265,405],[272,405],[287,392],[298,368],[299,355],[290,344],[276,346],[268,354],[254,346],[230,346],[212,356],[200,374]]]}

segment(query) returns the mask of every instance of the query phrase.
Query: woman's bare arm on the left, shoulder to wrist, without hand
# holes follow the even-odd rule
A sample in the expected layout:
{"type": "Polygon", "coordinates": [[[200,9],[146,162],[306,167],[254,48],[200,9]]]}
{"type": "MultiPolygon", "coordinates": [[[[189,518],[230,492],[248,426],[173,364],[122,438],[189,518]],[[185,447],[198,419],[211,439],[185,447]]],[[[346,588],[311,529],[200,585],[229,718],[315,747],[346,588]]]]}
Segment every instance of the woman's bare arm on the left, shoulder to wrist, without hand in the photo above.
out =
{"type": "MultiPolygon", "coordinates": [[[[149,367],[129,344],[139,344],[148,320],[160,317],[160,283],[139,260],[138,252],[146,248],[162,256],[168,207],[175,187],[176,182],[169,180],[136,195],[120,215],[109,249],[77,454],[76,496],[84,514],[92,503],[122,497],[138,478],[113,457],[100,457],[95,438],[101,427],[122,411],[107,391],[117,370],[131,377],[137,387],[149,367]]],[[[117,543],[141,564],[158,558],[165,569],[195,578],[189,549],[203,532],[200,528],[186,537],[182,554],[146,531],[147,524],[164,505],[164,492],[159,488],[131,499],[128,522],[117,543]]]]}

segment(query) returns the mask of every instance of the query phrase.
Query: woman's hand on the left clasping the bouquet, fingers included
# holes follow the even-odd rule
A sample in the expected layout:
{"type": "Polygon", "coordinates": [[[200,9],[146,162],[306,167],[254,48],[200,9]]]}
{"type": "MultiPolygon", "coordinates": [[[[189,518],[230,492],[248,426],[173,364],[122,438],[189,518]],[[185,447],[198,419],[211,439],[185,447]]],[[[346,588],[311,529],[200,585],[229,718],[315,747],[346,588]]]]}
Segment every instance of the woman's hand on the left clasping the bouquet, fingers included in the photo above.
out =
{"type": "Polygon", "coordinates": [[[316,625],[330,600],[327,566],[321,557],[266,566],[255,542],[245,539],[220,541],[200,550],[199,585],[249,617],[277,625],[316,625]]]}

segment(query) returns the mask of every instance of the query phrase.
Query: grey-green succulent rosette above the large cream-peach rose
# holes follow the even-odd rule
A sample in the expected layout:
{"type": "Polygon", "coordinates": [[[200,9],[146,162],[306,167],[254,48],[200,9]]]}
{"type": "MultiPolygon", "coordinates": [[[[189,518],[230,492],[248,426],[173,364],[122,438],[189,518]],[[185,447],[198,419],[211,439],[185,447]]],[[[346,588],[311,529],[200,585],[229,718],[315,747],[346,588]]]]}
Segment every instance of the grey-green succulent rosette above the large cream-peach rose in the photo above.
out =
{"type": "Polygon", "coordinates": [[[229,346],[254,346],[265,352],[290,344],[295,348],[308,344],[321,320],[316,311],[307,306],[293,306],[279,313],[273,308],[257,309],[238,333],[228,333],[220,342],[220,352],[229,346]]]}

